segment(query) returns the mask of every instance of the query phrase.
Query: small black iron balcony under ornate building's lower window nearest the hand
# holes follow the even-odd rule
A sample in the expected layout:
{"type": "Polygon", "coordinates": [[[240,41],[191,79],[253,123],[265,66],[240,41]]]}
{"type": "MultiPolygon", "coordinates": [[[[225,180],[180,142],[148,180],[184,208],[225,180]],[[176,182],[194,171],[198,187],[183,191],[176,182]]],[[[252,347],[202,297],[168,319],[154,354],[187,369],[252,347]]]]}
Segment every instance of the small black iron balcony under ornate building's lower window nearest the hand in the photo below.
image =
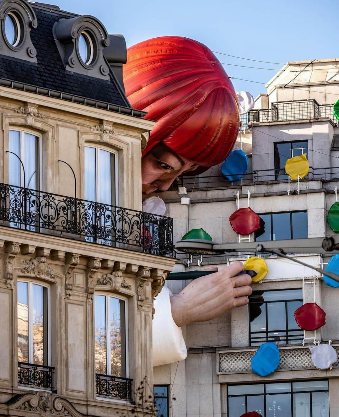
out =
{"type": "Polygon", "coordinates": [[[101,397],[132,399],[133,379],[95,374],[95,391],[101,397]]]}

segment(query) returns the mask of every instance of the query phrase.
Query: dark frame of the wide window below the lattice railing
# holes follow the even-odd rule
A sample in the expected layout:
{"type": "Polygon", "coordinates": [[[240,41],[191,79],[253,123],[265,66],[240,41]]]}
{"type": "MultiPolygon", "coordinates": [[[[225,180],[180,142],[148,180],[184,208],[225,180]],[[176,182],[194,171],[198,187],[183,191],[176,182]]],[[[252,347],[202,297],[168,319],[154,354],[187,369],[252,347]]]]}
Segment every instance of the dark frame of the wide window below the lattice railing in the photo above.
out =
{"type": "MultiPolygon", "coordinates": [[[[290,381],[285,381],[285,380],[272,380],[272,381],[266,381],[266,382],[257,382],[257,383],[253,383],[253,382],[248,382],[247,384],[242,383],[242,384],[227,384],[227,410],[229,412],[229,399],[231,397],[245,397],[245,412],[249,412],[249,411],[253,411],[253,410],[248,410],[247,408],[247,398],[248,397],[253,397],[253,396],[258,396],[258,395],[262,395],[264,397],[264,415],[267,414],[267,409],[266,409],[266,396],[267,395],[274,395],[274,394],[290,394],[291,395],[291,417],[297,417],[294,415],[294,411],[293,411],[293,395],[294,394],[303,394],[303,393],[309,393],[310,394],[310,404],[312,404],[312,393],[314,392],[327,392],[328,393],[328,397],[329,397],[329,387],[328,389],[323,389],[323,390],[311,390],[309,389],[308,391],[293,391],[293,383],[295,382],[320,382],[320,381],[325,381],[327,382],[327,384],[329,384],[329,379],[296,379],[296,380],[290,380],[290,381]],[[279,392],[279,393],[273,393],[273,392],[266,392],[266,385],[269,385],[271,383],[288,383],[290,384],[290,390],[289,392],[279,392]],[[229,387],[232,386],[239,386],[239,385],[264,385],[264,389],[263,389],[263,393],[262,394],[235,394],[235,395],[229,395],[229,387]]],[[[330,412],[330,409],[328,410],[330,412]]],[[[310,407],[310,415],[312,416],[312,407],[310,407]]],[[[330,415],[330,414],[329,414],[330,415]]]]}

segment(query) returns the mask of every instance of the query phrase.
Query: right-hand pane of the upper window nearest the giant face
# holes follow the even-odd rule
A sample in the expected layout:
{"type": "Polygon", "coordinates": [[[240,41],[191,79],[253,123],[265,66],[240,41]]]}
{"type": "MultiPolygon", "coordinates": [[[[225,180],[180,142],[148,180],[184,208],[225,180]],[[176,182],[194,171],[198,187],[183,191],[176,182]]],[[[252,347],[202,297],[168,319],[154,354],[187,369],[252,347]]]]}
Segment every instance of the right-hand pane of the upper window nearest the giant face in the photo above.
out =
{"type": "Polygon", "coordinates": [[[114,205],[114,154],[99,149],[99,200],[98,203],[114,205]]]}

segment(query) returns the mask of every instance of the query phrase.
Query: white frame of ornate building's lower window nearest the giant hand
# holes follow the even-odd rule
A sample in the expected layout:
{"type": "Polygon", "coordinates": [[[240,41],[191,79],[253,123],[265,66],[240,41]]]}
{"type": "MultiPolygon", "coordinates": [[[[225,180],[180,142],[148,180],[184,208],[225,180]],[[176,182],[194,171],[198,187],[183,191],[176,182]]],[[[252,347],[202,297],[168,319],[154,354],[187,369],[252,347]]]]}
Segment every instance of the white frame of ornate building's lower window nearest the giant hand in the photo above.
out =
{"type": "MultiPolygon", "coordinates": [[[[128,333],[128,297],[125,297],[121,294],[115,294],[115,293],[110,293],[107,291],[95,291],[94,293],[94,302],[95,302],[95,296],[96,295],[101,295],[101,296],[105,296],[105,319],[106,319],[106,375],[110,376],[110,377],[118,377],[117,375],[113,375],[111,373],[111,363],[110,363],[110,343],[108,343],[108,341],[110,340],[109,338],[109,326],[108,326],[108,318],[109,318],[109,303],[108,303],[108,297],[113,297],[113,298],[117,298],[119,300],[122,300],[125,302],[125,360],[126,360],[126,376],[121,377],[121,378],[126,378],[129,379],[129,344],[128,344],[128,339],[129,339],[129,333],[128,333]],[[108,368],[109,368],[109,372],[108,372],[108,368]]],[[[95,367],[95,308],[93,308],[93,316],[94,316],[94,367],[95,367]]],[[[95,369],[95,374],[97,374],[98,372],[96,372],[95,369]]],[[[119,377],[118,377],[119,378],[119,377]]]]}

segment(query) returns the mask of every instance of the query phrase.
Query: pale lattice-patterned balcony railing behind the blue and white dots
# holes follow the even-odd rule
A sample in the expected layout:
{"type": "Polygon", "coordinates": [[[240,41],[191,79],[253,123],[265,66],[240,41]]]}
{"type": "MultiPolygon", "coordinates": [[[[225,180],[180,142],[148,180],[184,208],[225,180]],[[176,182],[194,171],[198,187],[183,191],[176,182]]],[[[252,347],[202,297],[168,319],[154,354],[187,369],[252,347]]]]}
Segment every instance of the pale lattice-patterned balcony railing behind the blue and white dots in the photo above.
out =
{"type": "MultiPolygon", "coordinates": [[[[332,345],[339,353],[339,345],[332,345]]],[[[229,349],[218,352],[219,369],[218,374],[243,374],[252,372],[251,359],[258,348],[250,349],[229,349]]],[[[316,369],[314,366],[311,351],[306,346],[278,347],[280,362],[277,371],[316,369]]],[[[339,357],[334,368],[339,367],[339,357]]]]}

